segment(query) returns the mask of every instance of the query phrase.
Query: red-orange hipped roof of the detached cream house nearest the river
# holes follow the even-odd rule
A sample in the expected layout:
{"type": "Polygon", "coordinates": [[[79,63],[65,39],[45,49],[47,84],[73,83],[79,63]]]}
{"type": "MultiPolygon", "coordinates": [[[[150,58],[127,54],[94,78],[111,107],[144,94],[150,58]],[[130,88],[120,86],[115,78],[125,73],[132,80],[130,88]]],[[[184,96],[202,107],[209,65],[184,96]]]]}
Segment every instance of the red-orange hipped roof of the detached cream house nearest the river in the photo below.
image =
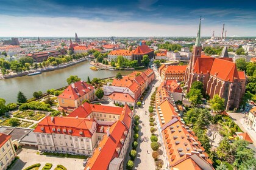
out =
{"type": "Polygon", "coordinates": [[[70,84],[68,87],[66,87],[64,92],[62,94],[60,94],[58,98],[77,100],[77,98],[84,96],[91,90],[94,90],[93,86],[80,80],[80,81],[77,81],[76,83],[70,84]]]}

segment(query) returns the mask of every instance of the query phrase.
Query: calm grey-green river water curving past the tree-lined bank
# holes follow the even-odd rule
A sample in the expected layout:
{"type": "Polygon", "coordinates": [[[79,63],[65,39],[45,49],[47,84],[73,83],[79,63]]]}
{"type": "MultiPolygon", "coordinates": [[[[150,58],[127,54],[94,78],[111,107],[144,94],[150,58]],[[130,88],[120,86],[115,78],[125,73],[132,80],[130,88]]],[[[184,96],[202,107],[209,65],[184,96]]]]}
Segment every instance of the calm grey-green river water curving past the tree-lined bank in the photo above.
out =
{"type": "MultiPolygon", "coordinates": [[[[54,70],[52,72],[43,72],[40,75],[24,76],[0,80],[0,98],[4,98],[7,103],[16,103],[16,97],[19,91],[23,92],[27,99],[32,97],[35,91],[46,92],[48,89],[59,89],[67,86],[66,79],[70,75],[77,75],[82,80],[87,81],[93,78],[113,77],[118,73],[111,70],[91,70],[90,61],[85,61],[65,69],[54,70]]],[[[123,75],[132,71],[120,71],[123,75]]]]}

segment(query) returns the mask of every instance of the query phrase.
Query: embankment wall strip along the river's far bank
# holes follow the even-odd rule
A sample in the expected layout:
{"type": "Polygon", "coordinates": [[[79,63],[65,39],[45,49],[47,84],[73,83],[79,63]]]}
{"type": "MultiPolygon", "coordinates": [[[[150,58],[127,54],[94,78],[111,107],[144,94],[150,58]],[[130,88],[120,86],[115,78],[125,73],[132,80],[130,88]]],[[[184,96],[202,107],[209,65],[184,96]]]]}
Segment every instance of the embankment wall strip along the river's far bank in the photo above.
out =
{"type": "Polygon", "coordinates": [[[59,65],[57,67],[50,67],[50,68],[48,67],[48,68],[45,68],[45,69],[37,69],[37,70],[30,71],[30,72],[15,73],[15,74],[12,74],[12,75],[4,75],[2,78],[0,77],[0,80],[1,79],[14,78],[14,77],[23,77],[23,76],[28,75],[29,73],[34,73],[34,72],[42,72],[43,73],[43,72],[51,72],[53,70],[65,69],[66,67],[74,66],[76,64],[82,63],[82,62],[87,61],[87,60],[89,60],[89,59],[88,58],[83,58],[81,60],[71,61],[70,63],[59,65]]]}

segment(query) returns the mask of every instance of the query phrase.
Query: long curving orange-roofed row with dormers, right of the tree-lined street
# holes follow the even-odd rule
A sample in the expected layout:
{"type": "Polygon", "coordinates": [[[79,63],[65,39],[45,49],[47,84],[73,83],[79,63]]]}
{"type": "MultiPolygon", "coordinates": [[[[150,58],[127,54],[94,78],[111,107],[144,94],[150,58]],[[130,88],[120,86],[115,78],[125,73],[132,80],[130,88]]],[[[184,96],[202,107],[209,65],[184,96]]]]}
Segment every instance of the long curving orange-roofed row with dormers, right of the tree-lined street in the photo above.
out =
{"type": "Polygon", "coordinates": [[[155,95],[157,129],[163,146],[165,169],[213,169],[200,141],[180,118],[168,84],[162,83],[155,95]]]}

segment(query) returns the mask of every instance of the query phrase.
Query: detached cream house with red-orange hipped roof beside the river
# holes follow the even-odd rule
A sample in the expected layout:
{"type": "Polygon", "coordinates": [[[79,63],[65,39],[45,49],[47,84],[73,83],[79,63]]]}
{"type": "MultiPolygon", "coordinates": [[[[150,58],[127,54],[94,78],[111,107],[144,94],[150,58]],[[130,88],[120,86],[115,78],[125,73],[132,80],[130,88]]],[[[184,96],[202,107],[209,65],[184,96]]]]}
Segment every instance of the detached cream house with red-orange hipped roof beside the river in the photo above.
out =
{"type": "Polygon", "coordinates": [[[62,94],[58,96],[59,110],[72,112],[79,107],[84,100],[92,101],[95,99],[94,87],[80,80],[71,83],[62,94]]]}

